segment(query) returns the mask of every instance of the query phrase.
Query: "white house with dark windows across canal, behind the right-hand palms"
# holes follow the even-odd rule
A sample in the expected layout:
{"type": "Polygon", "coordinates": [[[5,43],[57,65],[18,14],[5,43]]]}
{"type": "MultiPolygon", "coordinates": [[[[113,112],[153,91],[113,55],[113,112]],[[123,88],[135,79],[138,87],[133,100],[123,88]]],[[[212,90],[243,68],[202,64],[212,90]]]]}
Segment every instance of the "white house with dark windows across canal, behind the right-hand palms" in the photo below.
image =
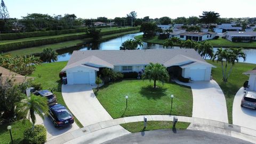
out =
{"type": "Polygon", "coordinates": [[[190,39],[190,40],[193,40],[193,41],[196,41],[196,42],[202,42],[202,41],[206,41],[206,40],[209,40],[209,39],[213,39],[217,34],[216,33],[213,33],[213,32],[207,32],[207,33],[204,33],[204,32],[185,32],[185,33],[179,33],[179,34],[171,34],[170,37],[178,37],[180,38],[180,40],[187,40],[187,39],[190,39]]]}

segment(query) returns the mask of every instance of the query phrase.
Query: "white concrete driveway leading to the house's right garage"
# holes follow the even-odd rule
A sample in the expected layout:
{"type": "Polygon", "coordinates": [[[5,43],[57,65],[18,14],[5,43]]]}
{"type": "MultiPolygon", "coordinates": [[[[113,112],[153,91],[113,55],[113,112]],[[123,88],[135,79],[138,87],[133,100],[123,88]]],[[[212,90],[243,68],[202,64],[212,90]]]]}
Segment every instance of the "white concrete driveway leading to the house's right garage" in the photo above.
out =
{"type": "Polygon", "coordinates": [[[182,83],[178,80],[175,82],[191,87],[193,93],[193,117],[228,123],[225,95],[217,82],[214,80],[208,82],[195,81],[193,83],[182,83]]]}

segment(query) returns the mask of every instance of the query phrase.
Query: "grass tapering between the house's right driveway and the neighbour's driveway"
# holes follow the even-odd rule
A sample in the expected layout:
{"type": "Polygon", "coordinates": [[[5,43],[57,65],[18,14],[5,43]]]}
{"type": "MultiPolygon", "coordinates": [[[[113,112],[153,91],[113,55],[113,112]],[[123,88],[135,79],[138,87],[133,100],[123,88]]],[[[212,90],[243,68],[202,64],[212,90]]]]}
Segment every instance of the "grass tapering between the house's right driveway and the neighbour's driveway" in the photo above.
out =
{"type": "Polygon", "coordinates": [[[243,75],[245,71],[252,70],[256,67],[255,64],[250,63],[235,63],[233,68],[233,72],[231,73],[230,77],[228,78],[228,82],[224,83],[222,81],[222,69],[220,62],[212,62],[211,60],[207,60],[207,62],[211,63],[217,68],[212,68],[212,75],[213,79],[220,85],[223,93],[226,97],[227,103],[227,110],[228,110],[228,122],[230,124],[233,123],[232,119],[232,108],[233,108],[233,101],[237,91],[243,86],[244,82],[249,79],[248,76],[243,75]]]}

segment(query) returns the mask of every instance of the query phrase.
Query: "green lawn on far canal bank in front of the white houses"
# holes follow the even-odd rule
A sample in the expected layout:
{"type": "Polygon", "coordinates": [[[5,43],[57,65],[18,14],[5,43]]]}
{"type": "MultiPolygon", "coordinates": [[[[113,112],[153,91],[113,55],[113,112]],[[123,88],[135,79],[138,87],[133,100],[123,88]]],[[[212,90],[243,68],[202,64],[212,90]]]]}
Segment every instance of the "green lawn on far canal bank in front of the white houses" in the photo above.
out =
{"type": "MultiPolygon", "coordinates": [[[[165,39],[158,39],[158,36],[154,36],[152,38],[143,38],[142,35],[135,36],[135,39],[141,39],[143,42],[154,43],[154,44],[164,44],[165,39]]],[[[212,44],[213,47],[244,47],[244,48],[256,48],[256,42],[252,43],[233,43],[228,41],[227,39],[219,38],[208,40],[212,44]]]]}

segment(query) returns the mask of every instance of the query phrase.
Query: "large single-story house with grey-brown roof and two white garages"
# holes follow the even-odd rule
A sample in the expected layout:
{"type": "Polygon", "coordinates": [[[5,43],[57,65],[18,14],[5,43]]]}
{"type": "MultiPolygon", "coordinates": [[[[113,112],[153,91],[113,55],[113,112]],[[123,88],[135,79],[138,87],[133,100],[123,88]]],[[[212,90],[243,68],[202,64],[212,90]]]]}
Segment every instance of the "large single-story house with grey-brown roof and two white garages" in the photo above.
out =
{"type": "Polygon", "coordinates": [[[142,71],[150,62],[161,63],[173,78],[210,81],[211,69],[194,49],[74,51],[67,66],[67,84],[95,84],[97,71],[110,68],[121,73],[142,71]]]}

